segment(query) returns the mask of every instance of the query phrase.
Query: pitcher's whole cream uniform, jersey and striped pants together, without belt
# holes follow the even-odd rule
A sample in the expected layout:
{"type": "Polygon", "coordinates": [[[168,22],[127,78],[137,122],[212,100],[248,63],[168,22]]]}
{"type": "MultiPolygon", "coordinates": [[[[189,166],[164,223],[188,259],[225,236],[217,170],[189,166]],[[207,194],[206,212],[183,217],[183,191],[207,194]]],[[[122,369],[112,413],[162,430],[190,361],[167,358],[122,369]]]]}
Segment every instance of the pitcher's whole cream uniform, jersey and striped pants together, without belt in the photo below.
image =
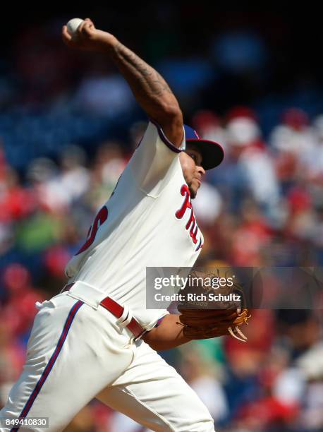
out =
{"type": "Polygon", "coordinates": [[[203,238],[180,151],[149,124],[66,267],[76,283],[37,304],[26,364],[0,411],[0,431],[18,431],[19,419],[28,422],[20,430],[41,432],[28,425],[43,417],[47,431],[63,431],[96,397],[150,430],[214,432],[212,416],[176,370],[99,307],[111,296],[150,329],[166,310],[145,308],[146,266],[191,267],[199,255],[203,238]]]}

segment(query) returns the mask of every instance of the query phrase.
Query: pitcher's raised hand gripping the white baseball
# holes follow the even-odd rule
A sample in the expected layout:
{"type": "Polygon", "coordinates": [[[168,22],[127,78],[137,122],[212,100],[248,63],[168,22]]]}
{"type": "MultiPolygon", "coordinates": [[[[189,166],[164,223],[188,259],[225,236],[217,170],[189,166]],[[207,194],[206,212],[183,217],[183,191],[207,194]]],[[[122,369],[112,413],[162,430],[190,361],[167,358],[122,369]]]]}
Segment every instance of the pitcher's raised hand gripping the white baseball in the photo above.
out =
{"type": "Polygon", "coordinates": [[[114,35],[97,30],[90,18],[85,18],[73,37],[68,33],[66,25],[63,25],[62,38],[68,47],[97,52],[106,52],[109,47],[114,47],[118,43],[114,35]]]}

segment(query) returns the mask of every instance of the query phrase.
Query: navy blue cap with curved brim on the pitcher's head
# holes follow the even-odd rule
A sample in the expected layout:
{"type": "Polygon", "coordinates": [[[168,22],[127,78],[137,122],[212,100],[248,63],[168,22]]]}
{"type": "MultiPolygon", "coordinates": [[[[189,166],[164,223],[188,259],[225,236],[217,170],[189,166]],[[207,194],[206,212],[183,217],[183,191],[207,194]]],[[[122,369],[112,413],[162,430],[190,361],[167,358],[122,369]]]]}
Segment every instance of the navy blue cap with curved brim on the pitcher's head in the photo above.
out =
{"type": "Polygon", "coordinates": [[[212,169],[221,164],[224,159],[224,150],[219,143],[210,140],[204,140],[197,135],[197,132],[184,124],[185,141],[196,145],[196,148],[202,155],[202,167],[212,169]]]}

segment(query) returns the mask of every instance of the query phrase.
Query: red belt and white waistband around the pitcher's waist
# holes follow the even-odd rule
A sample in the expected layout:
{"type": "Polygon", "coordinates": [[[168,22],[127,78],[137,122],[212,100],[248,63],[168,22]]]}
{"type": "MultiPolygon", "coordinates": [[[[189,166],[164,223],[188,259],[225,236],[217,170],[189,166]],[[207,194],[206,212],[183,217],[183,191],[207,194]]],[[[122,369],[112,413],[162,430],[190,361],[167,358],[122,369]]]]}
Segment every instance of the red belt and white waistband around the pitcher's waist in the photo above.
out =
{"type": "Polygon", "coordinates": [[[83,301],[92,308],[104,307],[117,318],[117,324],[122,328],[128,328],[134,336],[134,340],[140,339],[148,330],[136,320],[127,306],[118,304],[110,296],[106,296],[102,291],[91,285],[76,281],[66,284],[61,292],[68,292],[68,295],[75,299],[83,301]]]}

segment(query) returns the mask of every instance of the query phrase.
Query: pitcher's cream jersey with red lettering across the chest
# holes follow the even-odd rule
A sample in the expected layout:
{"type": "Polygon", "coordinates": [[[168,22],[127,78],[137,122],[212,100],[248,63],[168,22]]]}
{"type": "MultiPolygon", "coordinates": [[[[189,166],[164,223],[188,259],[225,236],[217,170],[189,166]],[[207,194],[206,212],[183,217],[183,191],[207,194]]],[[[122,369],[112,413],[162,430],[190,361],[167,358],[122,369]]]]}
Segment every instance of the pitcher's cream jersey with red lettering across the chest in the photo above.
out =
{"type": "MultiPolygon", "coordinates": [[[[127,306],[145,328],[167,312],[146,309],[146,267],[192,267],[203,236],[197,227],[179,154],[150,121],[140,145],[97,213],[87,240],[66,266],[102,299],[127,306]]],[[[154,287],[147,287],[147,290],[154,287]]]]}

